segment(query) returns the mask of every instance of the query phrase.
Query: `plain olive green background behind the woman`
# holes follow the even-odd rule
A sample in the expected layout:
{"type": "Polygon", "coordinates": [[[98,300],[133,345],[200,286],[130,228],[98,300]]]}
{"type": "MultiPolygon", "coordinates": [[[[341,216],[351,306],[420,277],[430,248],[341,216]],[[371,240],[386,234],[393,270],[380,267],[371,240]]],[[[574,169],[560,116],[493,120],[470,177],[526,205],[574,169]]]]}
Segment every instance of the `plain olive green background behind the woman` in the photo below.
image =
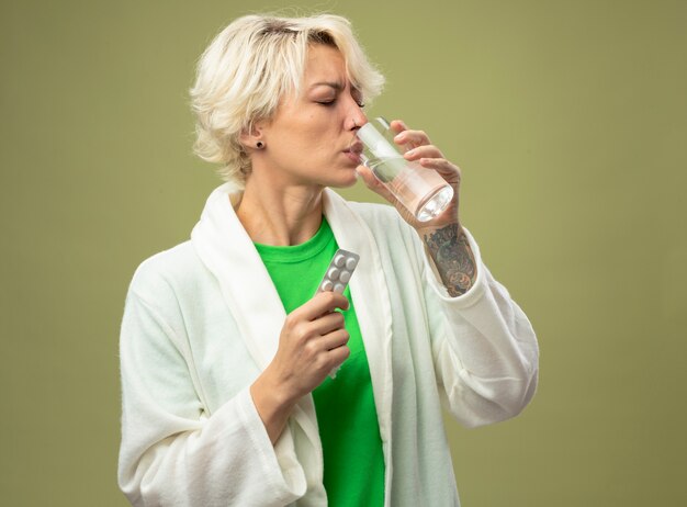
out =
{"type": "MultiPolygon", "coordinates": [[[[194,63],[284,5],[2,1],[0,504],[127,505],[126,288],[218,184],[191,154],[194,63]]],[[[530,407],[449,428],[463,505],[687,505],[687,3],[300,7],[353,22],[387,77],[370,114],[461,166],[462,219],[538,331],[530,407]]]]}

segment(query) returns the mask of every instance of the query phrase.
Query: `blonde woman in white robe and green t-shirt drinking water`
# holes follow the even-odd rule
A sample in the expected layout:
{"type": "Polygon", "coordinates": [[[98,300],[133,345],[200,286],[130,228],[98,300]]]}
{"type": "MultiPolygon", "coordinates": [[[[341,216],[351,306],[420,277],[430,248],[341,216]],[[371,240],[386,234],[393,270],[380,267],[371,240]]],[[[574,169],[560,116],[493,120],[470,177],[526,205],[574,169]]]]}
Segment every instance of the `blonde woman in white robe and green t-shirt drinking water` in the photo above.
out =
{"type": "Polygon", "coordinates": [[[455,191],[420,224],[349,149],[382,82],[334,15],[241,18],[203,54],[196,151],[227,183],[129,288],[132,504],[454,506],[441,403],[474,427],[532,397],[537,341],[461,226],[458,168],[393,122],[455,191]],[[394,206],[328,190],[358,174],[394,206]],[[360,255],[349,289],[313,295],[339,247],[360,255]]]}

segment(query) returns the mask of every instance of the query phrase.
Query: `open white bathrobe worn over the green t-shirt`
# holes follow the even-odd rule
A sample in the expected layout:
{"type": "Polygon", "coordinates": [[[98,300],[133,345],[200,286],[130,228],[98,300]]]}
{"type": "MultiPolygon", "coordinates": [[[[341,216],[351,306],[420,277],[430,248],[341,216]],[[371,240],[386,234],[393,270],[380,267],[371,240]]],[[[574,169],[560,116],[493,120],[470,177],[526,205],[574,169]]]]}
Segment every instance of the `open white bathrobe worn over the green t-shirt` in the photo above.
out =
{"type": "MultiPolygon", "coordinates": [[[[285,313],[228,184],[191,240],[144,261],[126,298],[120,487],[136,506],[326,506],[312,396],[272,446],[249,386],[285,313]]],[[[385,505],[457,506],[441,404],[475,427],[531,399],[537,339],[472,236],[477,279],[450,297],[397,212],[325,190],[340,248],[360,255],[351,297],[368,354],[385,462],[385,505]]]]}

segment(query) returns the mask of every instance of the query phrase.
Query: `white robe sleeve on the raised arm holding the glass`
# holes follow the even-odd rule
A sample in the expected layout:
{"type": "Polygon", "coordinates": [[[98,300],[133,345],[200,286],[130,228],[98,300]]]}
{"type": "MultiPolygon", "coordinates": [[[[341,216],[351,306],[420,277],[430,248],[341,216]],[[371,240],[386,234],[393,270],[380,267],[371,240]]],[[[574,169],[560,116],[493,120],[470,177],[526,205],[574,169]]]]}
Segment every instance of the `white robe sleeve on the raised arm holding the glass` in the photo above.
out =
{"type": "Polygon", "coordinates": [[[539,348],[527,316],[465,234],[477,269],[465,294],[451,297],[427,251],[420,256],[441,401],[461,424],[477,427],[514,417],[527,406],[537,387],[539,348]]]}

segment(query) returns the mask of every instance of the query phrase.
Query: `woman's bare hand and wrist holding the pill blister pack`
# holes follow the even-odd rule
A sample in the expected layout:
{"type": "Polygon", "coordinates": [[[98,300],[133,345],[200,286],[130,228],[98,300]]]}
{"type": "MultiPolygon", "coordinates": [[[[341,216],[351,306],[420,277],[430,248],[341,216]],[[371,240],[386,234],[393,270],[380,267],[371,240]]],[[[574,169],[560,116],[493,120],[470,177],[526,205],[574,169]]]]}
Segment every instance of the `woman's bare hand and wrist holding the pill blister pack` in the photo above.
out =
{"type": "Polygon", "coordinates": [[[250,386],[258,414],[272,443],[295,403],[311,393],[350,354],[344,315],[348,300],[320,292],[286,316],[274,359],[250,386]]]}

